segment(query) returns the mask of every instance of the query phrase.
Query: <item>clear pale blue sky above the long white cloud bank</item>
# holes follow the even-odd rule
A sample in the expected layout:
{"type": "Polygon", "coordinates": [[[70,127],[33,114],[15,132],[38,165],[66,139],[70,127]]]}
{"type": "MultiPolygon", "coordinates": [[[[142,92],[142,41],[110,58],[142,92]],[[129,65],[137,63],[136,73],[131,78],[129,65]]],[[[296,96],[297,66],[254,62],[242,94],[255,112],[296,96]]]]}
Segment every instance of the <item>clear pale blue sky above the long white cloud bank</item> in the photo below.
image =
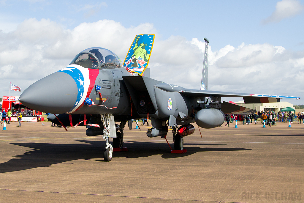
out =
{"type": "MultiPolygon", "coordinates": [[[[227,44],[269,43],[304,49],[303,13],[262,24],[278,1],[0,1],[2,30],[12,30],[29,18],[50,19],[67,29],[80,23],[110,19],[124,27],[152,23],[161,39],[181,35],[207,37],[215,49],[227,44]],[[4,22],[3,22],[4,21],[4,22]]],[[[299,1],[300,4],[304,4],[299,1]]]]}

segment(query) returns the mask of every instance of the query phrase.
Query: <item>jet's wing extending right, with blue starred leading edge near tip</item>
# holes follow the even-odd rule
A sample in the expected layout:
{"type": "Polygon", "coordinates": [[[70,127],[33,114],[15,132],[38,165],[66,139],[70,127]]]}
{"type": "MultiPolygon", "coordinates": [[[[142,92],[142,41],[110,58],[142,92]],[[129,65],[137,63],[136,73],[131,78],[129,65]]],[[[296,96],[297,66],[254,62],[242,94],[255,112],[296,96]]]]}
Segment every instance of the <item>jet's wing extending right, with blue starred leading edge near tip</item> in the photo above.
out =
{"type": "Polygon", "coordinates": [[[270,103],[280,102],[280,98],[290,98],[299,100],[300,97],[283,96],[283,95],[267,95],[267,94],[246,94],[246,93],[232,93],[219,92],[211,90],[197,90],[197,89],[181,89],[180,94],[189,97],[243,97],[245,103],[270,103]]]}

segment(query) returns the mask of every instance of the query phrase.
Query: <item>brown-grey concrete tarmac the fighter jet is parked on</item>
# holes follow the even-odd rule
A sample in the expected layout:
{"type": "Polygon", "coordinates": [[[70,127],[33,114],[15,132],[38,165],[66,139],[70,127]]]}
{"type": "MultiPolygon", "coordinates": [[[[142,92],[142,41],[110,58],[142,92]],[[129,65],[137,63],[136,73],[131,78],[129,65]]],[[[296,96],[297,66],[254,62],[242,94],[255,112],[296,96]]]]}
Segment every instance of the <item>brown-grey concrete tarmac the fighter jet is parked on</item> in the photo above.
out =
{"type": "MultiPolygon", "coordinates": [[[[0,131],[0,202],[304,202],[304,124],[230,124],[184,138],[184,154],[126,125],[104,162],[102,136],[49,122],[0,131]]],[[[2,129],[2,126],[1,126],[2,129]]],[[[172,133],[167,136],[173,148],[172,133]]]]}

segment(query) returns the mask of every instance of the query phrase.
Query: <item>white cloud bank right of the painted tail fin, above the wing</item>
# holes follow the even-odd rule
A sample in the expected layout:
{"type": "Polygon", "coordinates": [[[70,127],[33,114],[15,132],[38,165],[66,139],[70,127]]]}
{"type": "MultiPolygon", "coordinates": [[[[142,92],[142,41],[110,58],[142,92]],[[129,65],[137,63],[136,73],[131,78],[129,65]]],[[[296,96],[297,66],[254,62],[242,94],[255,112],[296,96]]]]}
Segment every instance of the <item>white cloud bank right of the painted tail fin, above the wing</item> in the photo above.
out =
{"type": "MultiPolygon", "coordinates": [[[[199,89],[205,42],[194,38],[188,43],[181,37],[171,36],[154,44],[154,47],[161,50],[154,48],[151,55],[155,57],[150,59],[151,77],[185,88],[199,89]],[[171,57],[167,57],[168,54],[171,57]]],[[[303,84],[302,78],[303,52],[293,53],[282,46],[267,43],[242,43],[237,48],[227,45],[219,51],[212,51],[209,45],[209,90],[289,95],[302,92],[299,86],[303,84]]],[[[294,95],[303,97],[303,93],[294,95]]]]}

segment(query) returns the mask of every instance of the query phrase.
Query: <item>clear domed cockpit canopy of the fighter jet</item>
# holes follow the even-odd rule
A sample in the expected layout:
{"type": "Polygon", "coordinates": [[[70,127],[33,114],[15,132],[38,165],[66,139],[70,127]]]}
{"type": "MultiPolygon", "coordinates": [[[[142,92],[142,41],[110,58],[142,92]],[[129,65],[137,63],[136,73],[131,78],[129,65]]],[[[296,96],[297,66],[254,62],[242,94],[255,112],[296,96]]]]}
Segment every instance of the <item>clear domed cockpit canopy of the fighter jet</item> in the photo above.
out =
{"type": "Polygon", "coordinates": [[[81,51],[69,65],[71,64],[77,64],[84,68],[93,69],[123,67],[122,62],[116,54],[101,47],[92,47],[81,51]]]}

